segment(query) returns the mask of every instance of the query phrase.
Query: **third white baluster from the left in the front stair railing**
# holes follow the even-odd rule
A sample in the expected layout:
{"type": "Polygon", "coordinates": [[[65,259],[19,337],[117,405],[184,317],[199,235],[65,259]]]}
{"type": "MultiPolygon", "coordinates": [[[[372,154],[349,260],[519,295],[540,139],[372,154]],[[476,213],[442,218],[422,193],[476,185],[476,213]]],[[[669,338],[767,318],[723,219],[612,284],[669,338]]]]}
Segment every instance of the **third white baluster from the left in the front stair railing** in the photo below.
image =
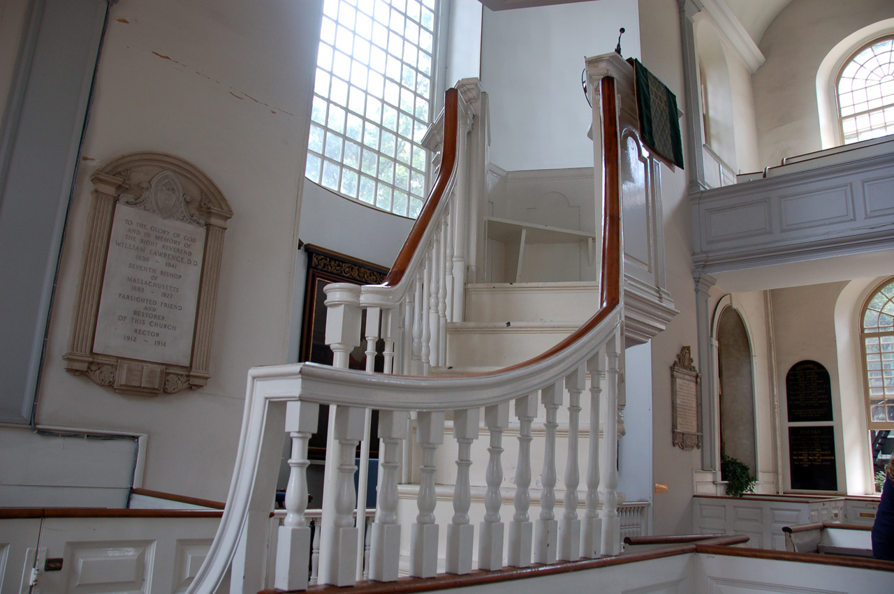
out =
{"type": "Polygon", "coordinates": [[[382,440],[378,497],[370,552],[369,579],[396,581],[401,555],[401,524],[397,523],[401,439],[407,439],[409,413],[379,411],[379,439],[382,440]]]}

